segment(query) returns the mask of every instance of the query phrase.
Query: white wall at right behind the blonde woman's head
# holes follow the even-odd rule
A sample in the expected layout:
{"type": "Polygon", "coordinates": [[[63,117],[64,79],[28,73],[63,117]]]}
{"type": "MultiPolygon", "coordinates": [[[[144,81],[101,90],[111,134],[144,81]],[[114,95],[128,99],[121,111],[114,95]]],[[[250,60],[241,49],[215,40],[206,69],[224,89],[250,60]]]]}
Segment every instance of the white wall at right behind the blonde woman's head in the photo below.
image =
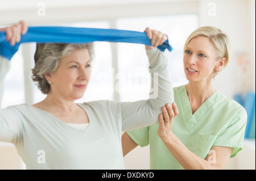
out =
{"type": "Polygon", "coordinates": [[[215,26],[226,32],[230,38],[232,48],[230,62],[224,71],[216,77],[216,81],[214,81],[216,89],[230,98],[237,91],[255,91],[255,28],[253,32],[253,24],[255,27],[255,1],[202,0],[199,5],[199,19],[200,26],[215,26]],[[251,6],[253,3],[254,8],[251,6]],[[212,15],[210,10],[214,9],[214,5],[216,14],[212,15]],[[243,81],[247,81],[243,89],[241,89],[242,85],[237,85],[237,83],[241,83],[237,81],[241,78],[238,77],[238,65],[236,64],[239,53],[247,54],[250,62],[250,65],[248,65],[249,73],[243,78],[243,81]]]}

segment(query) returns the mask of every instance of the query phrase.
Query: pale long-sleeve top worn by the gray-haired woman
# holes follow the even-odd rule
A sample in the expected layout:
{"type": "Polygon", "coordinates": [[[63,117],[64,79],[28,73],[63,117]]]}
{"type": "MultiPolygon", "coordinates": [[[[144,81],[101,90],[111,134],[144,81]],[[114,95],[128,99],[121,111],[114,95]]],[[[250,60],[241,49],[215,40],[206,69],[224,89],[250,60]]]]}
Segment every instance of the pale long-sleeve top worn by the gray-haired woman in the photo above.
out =
{"type": "MultiPolygon", "coordinates": [[[[28,104],[10,106],[0,111],[0,141],[13,142],[27,169],[125,169],[122,132],[158,123],[161,107],[174,102],[167,57],[157,48],[146,52],[150,72],[158,73],[152,99],[78,104],[89,117],[85,129],[28,104]]],[[[9,66],[1,57],[0,94],[9,66]]]]}

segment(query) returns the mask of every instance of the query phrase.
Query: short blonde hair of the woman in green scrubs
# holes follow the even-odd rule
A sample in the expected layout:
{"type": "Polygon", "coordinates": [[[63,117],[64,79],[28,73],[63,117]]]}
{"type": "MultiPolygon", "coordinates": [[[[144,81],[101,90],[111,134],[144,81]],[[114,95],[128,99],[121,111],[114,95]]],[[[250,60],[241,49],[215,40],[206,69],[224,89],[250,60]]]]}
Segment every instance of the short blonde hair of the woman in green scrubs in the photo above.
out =
{"type": "MultiPolygon", "coordinates": [[[[188,43],[197,36],[205,36],[208,37],[209,40],[212,42],[215,53],[218,58],[226,58],[226,62],[224,67],[229,62],[229,54],[230,54],[230,42],[229,37],[226,35],[226,33],[222,32],[220,29],[212,27],[212,26],[204,26],[197,28],[195,31],[191,33],[191,35],[188,36],[187,41],[184,45],[184,53],[185,53],[185,47],[187,47],[188,43]]],[[[219,73],[220,71],[215,71],[214,77],[219,73]]]]}

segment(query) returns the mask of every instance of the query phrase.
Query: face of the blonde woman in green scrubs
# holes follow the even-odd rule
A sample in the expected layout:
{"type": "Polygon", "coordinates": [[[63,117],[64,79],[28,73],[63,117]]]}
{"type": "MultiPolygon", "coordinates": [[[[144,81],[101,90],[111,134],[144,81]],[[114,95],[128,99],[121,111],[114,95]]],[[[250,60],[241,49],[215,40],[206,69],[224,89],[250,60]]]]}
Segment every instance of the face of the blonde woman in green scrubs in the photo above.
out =
{"type": "Polygon", "coordinates": [[[208,37],[197,36],[185,47],[183,57],[185,76],[188,81],[212,81],[218,65],[214,47],[208,37]]]}

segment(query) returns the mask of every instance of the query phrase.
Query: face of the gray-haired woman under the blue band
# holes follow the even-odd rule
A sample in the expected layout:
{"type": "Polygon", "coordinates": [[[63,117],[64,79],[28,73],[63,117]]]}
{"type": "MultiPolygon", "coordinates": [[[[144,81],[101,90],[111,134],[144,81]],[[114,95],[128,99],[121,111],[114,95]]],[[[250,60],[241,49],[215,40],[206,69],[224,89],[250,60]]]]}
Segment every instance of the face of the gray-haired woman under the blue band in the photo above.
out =
{"type": "Polygon", "coordinates": [[[82,98],[90,79],[90,57],[87,49],[75,49],[60,59],[51,73],[51,91],[67,100],[82,98]]]}

